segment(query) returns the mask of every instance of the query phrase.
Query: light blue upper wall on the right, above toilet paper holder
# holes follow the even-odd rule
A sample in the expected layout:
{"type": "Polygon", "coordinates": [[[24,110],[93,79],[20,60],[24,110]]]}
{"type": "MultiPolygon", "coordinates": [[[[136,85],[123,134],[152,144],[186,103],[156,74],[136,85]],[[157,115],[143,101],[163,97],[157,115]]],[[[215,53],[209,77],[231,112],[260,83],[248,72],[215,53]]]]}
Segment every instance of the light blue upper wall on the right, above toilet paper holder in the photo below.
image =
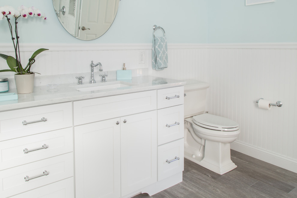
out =
{"type": "Polygon", "coordinates": [[[296,0],[208,0],[208,43],[297,42],[296,8],[296,0]]]}

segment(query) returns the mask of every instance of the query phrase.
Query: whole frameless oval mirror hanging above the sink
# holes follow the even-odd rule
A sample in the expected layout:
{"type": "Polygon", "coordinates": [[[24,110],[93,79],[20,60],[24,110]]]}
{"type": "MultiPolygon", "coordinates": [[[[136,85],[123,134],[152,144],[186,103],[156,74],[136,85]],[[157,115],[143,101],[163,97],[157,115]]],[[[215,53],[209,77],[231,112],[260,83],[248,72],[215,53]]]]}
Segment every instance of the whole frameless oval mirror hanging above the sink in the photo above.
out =
{"type": "Polygon", "coordinates": [[[111,26],[120,0],[52,0],[55,13],[69,34],[84,41],[102,36],[111,26]]]}

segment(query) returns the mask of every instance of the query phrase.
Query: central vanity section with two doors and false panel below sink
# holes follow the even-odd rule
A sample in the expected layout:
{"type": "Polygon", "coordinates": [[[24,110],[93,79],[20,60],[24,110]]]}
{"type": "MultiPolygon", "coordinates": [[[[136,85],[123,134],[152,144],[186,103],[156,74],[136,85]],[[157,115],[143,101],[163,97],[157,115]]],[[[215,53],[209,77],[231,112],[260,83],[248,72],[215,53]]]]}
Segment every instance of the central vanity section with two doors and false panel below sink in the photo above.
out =
{"type": "Polygon", "coordinates": [[[121,197],[157,182],[156,90],[73,108],[75,125],[99,121],[74,126],[76,197],[121,197]]]}

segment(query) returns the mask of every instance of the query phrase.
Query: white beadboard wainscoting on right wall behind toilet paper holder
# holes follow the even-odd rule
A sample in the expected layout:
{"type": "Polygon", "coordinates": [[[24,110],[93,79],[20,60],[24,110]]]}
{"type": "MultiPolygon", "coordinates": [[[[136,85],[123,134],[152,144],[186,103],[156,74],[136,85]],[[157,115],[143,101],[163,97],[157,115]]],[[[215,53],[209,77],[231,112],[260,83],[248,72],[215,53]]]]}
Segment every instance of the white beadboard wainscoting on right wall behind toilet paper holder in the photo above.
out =
{"type": "Polygon", "coordinates": [[[237,47],[208,49],[207,110],[240,125],[232,149],[297,173],[297,49],[237,47]]]}

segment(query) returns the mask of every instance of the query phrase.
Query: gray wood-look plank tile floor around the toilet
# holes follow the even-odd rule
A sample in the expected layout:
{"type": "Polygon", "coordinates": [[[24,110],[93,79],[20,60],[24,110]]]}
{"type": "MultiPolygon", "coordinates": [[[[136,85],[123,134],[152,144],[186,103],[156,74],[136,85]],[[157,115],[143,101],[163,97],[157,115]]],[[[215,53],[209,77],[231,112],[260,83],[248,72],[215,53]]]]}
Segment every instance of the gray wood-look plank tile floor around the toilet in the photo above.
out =
{"type": "MultiPolygon", "coordinates": [[[[295,197],[297,173],[231,150],[234,170],[219,175],[184,159],[183,181],[152,198],[295,197]]],[[[147,193],[134,198],[150,197],[147,193]]]]}

